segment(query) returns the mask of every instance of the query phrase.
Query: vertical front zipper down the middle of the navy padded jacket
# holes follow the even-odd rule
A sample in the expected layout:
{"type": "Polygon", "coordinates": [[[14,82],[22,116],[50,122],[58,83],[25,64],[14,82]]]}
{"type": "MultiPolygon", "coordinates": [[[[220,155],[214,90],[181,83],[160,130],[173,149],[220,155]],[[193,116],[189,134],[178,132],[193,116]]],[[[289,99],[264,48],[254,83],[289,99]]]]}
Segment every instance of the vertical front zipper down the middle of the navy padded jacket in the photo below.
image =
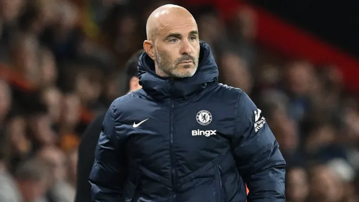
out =
{"type": "MultiPolygon", "coordinates": [[[[171,87],[173,87],[174,85],[174,81],[173,79],[171,78],[170,80],[170,83],[171,83],[171,87]]],[[[171,177],[172,177],[172,186],[173,186],[173,191],[174,191],[174,194],[172,196],[172,201],[175,201],[176,199],[176,170],[175,170],[175,159],[174,159],[174,156],[175,156],[175,151],[173,149],[173,109],[175,107],[175,101],[171,99],[171,110],[170,110],[170,148],[171,148],[171,177]]]]}

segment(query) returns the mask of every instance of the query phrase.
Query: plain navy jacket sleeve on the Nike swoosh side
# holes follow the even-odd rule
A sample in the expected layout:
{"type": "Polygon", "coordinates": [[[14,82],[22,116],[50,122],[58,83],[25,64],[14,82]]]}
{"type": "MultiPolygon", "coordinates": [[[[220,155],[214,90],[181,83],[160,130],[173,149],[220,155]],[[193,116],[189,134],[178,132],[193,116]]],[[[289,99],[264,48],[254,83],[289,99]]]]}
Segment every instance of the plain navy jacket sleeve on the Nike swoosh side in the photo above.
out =
{"type": "Polygon", "coordinates": [[[95,150],[95,161],[89,182],[92,185],[93,202],[121,202],[126,180],[124,135],[118,133],[121,124],[116,121],[114,101],[102,123],[102,130],[95,150]]]}

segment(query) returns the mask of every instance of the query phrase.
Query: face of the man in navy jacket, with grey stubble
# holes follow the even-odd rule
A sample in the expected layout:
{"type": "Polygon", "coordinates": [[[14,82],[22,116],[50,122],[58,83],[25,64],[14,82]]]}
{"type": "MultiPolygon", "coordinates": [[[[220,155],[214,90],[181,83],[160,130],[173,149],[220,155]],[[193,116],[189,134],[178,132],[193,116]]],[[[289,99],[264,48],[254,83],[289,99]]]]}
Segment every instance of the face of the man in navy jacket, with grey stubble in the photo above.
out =
{"type": "Polygon", "coordinates": [[[193,17],[162,18],[154,48],[155,63],[164,75],[177,78],[193,76],[199,58],[199,39],[195,19],[193,17]]]}

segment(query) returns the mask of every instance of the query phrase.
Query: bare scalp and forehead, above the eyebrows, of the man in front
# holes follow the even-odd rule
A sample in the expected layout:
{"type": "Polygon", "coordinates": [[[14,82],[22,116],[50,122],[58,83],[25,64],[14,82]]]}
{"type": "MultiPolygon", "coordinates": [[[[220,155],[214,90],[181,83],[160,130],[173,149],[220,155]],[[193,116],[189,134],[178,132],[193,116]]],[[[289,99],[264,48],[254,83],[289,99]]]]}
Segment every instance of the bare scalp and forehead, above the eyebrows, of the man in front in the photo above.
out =
{"type": "Polygon", "coordinates": [[[165,27],[171,26],[176,20],[180,19],[184,19],[184,21],[193,19],[196,23],[192,14],[181,6],[166,4],[158,7],[147,19],[147,40],[154,40],[160,29],[165,29],[165,27]]]}

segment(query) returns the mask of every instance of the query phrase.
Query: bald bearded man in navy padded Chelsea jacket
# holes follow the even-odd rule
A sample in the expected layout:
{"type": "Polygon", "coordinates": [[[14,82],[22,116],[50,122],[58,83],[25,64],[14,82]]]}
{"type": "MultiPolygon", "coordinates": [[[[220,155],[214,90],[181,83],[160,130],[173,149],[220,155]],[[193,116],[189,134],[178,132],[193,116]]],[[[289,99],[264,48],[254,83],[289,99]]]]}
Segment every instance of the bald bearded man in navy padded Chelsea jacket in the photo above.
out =
{"type": "Polygon", "coordinates": [[[285,161],[261,110],[218,84],[210,47],[176,5],[147,20],[142,89],[105,115],[90,174],[95,202],[284,202],[285,161]]]}

